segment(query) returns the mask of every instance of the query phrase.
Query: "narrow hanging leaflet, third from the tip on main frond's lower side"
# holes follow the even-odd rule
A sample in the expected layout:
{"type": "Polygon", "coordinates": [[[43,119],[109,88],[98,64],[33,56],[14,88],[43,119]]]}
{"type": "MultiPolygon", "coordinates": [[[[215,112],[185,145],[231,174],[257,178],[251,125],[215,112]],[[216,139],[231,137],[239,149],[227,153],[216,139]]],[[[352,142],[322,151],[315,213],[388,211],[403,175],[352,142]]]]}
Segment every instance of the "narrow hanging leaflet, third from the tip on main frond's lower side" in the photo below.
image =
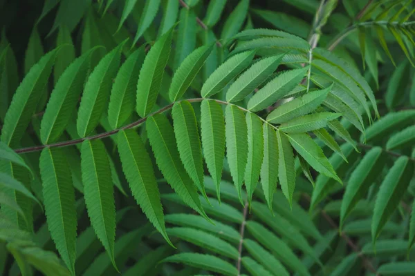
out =
{"type": "Polygon", "coordinates": [[[262,190],[268,208],[273,210],[273,196],[277,188],[278,168],[279,168],[279,148],[275,130],[269,124],[263,124],[264,132],[264,160],[261,166],[262,190]]]}

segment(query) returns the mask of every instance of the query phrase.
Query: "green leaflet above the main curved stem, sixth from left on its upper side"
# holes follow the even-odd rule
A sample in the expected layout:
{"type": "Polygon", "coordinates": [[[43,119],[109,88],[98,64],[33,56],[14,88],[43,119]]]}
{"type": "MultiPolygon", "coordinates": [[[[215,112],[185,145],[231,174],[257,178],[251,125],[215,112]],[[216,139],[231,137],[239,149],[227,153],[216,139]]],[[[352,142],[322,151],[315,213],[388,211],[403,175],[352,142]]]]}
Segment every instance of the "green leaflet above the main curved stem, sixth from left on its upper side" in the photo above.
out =
{"type": "Polygon", "coordinates": [[[174,73],[169,89],[171,101],[177,101],[185,94],[206,59],[208,59],[213,47],[213,45],[202,46],[194,50],[190,55],[187,55],[174,73]]]}

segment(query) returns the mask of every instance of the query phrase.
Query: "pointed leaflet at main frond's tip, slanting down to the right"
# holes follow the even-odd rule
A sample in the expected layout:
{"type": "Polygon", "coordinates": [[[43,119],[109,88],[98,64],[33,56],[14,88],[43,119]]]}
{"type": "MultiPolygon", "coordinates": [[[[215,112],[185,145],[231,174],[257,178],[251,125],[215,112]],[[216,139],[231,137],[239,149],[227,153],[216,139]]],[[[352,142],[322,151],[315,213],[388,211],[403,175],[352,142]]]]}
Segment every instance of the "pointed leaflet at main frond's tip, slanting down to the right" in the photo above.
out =
{"type": "Polygon", "coordinates": [[[301,155],[308,164],[310,164],[317,172],[331,177],[342,184],[342,180],[333,170],[329,160],[324,155],[322,149],[315,144],[306,133],[291,133],[287,135],[293,148],[301,155]]]}

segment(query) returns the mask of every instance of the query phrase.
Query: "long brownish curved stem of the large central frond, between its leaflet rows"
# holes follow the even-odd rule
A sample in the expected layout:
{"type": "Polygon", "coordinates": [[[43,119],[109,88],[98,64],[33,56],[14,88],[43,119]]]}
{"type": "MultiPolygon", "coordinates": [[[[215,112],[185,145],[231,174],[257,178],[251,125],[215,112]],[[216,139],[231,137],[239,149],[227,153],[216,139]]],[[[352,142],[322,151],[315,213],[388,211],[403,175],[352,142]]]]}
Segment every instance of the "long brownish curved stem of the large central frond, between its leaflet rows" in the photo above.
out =
{"type": "MultiPolygon", "coordinates": [[[[197,103],[197,102],[203,101],[204,99],[207,99],[207,98],[183,99],[181,101],[189,101],[190,103],[197,103]]],[[[216,101],[217,103],[220,103],[220,104],[223,104],[223,105],[236,106],[237,108],[239,108],[242,111],[250,112],[250,110],[248,110],[246,108],[243,108],[241,106],[237,106],[236,104],[233,104],[233,103],[228,103],[227,101],[221,101],[219,99],[208,99],[208,100],[210,100],[210,101],[216,101]]],[[[175,101],[174,103],[179,103],[181,101],[175,101]]],[[[129,128],[135,128],[136,126],[139,126],[140,124],[142,124],[145,121],[147,121],[147,119],[149,117],[154,116],[156,114],[163,113],[163,112],[165,112],[167,110],[172,109],[173,106],[174,106],[174,103],[170,103],[168,106],[165,106],[164,108],[160,108],[156,112],[153,112],[153,113],[147,115],[146,117],[143,117],[141,119],[138,119],[137,121],[134,121],[131,124],[128,124],[126,126],[122,126],[121,128],[116,128],[114,130],[109,130],[107,132],[102,132],[102,133],[97,134],[97,135],[92,135],[92,136],[89,136],[89,137],[84,137],[84,138],[75,139],[75,140],[71,140],[71,141],[62,141],[62,142],[57,142],[57,143],[48,144],[48,145],[32,146],[32,147],[29,147],[29,148],[19,148],[19,149],[15,150],[15,152],[17,152],[17,153],[25,153],[25,152],[33,152],[33,151],[42,150],[44,148],[62,148],[62,147],[65,147],[65,146],[72,146],[72,145],[75,145],[75,144],[80,144],[80,143],[82,143],[83,141],[86,141],[86,140],[95,140],[95,139],[102,139],[102,138],[105,138],[105,137],[109,137],[111,135],[117,134],[121,130],[127,130],[129,128]]],[[[265,119],[263,119],[261,117],[259,117],[259,119],[261,119],[261,121],[264,121],[264,123],[266,123],[266,124],[272,126],[273,128],[277,129],[276,126],[273,126],[272,124],[270,124],[265,119]]]]}

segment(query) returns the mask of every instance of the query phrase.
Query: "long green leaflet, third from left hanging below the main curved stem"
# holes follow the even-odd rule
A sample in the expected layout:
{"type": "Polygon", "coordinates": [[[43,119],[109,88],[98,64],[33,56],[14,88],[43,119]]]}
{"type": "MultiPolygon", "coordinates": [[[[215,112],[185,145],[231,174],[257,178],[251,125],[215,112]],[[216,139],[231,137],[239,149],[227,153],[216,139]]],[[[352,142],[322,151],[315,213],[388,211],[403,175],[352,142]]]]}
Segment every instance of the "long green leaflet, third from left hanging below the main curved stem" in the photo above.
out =
{"type": "MultiPolygon", "coordinates": [[[[118,134],[118,151],[122,170],[128,180],[131,192],[149,221],[172,245],[167,237],[163,207],[156,177],[151,166],[151,159],[145,149],[142,139],[135,130],[122,130],[118,134]]],[[[173,246],[173,245],[172,245],[173,246]]]]}

